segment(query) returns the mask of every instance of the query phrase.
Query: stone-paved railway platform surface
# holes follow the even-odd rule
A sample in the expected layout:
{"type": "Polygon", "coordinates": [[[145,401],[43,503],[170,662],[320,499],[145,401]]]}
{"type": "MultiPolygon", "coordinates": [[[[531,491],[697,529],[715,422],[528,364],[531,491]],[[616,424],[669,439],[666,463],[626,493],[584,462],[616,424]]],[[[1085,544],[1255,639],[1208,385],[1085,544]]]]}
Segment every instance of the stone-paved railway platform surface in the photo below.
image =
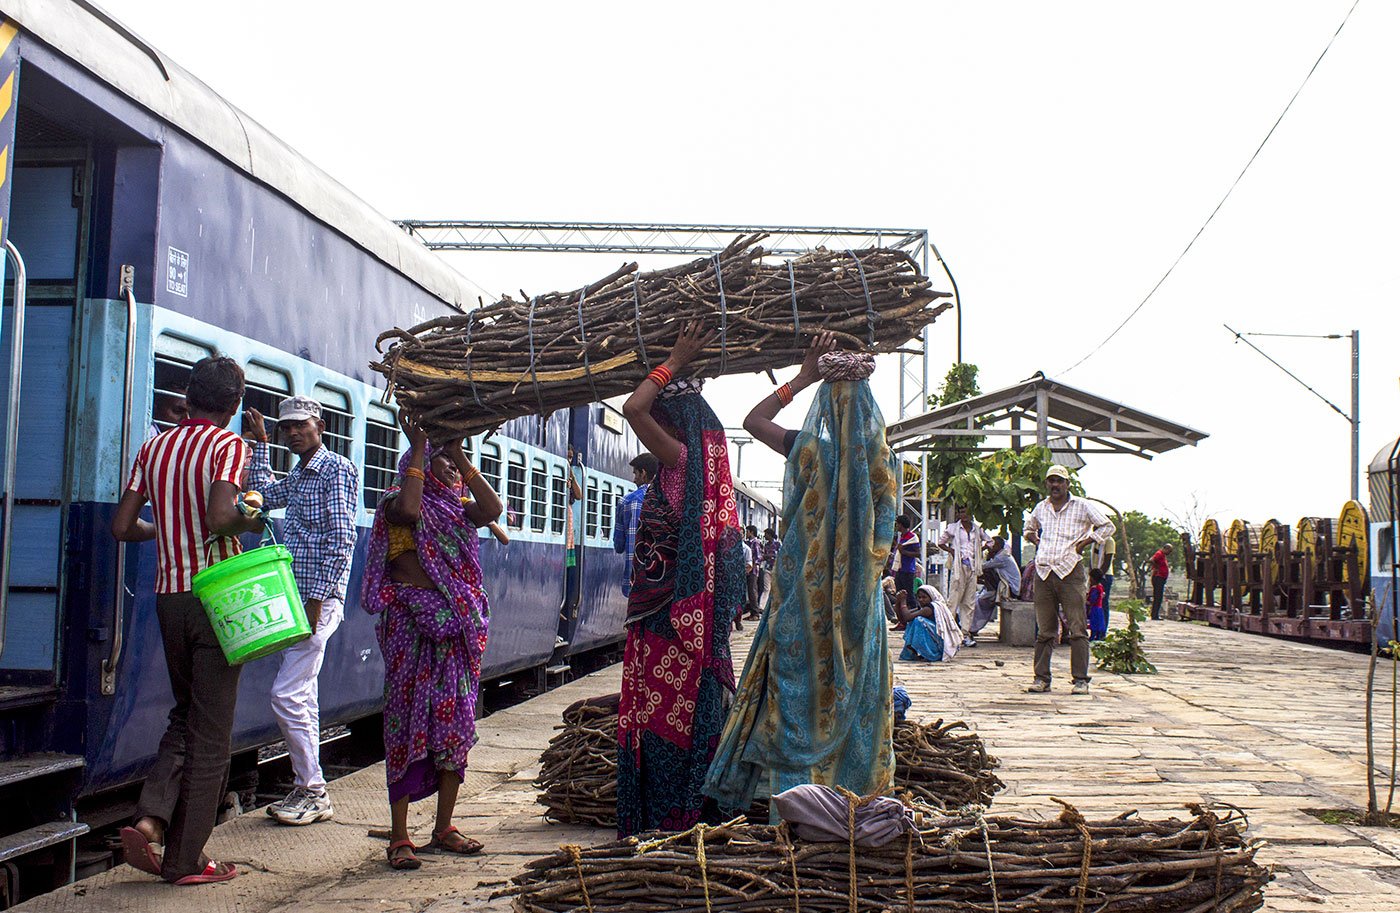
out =
{"type": "MultiPolygon", "coordinates": [[[[1114,619],[1119,620],[1117,618],[1114,619]]],[[[1053,816],[1051,797],[1085,814],[1182,812],[1186,802],[1245,809],[1277,867],[1266,910],[1400,912],[1400,830],[1324,825],[1305,808],[1365,808],[1364,655],[1179,622],[1148,622],[1148,651],[1161,672],[1098,674],[1093,695],[1068,693],[1068,651],[1056,653],[1056,689],[1023,692],[1030,650],[987,637],[946,664],[896,662],[916,720],[972,723],[1008,787],[993,812],[1053,816]]],[[[752,632],[752,626],[749,629],[752,632]]],[[[746,632],[745,634],[748,634],[746,632]]],[[[993,632],[986,632],[991,634],[993,632]]],[[[897,634],[892,634],[897,639],[897,634]]],[[[746,636],[735,639],[742,654],[746,636]]],[[[892,640],[897,653],[897,641],[892,640]]],[[[608,839],[603,830],[547,825],[531,784],[539,752],[571,702],[616,690],[613,667],[480,724],[458,821],[486,843],[479,857],[424,856],[417,872],[386,868],[386,843],[367,836],[388,825],[382,765],[332,784],[333,823],[274,825],[251,812],[221,825],[217,858],[246,874],[223,885],[171,888],[129,867],[31,900],[27,912],[141,913],[448,913],[507,910],[489,895],[521,864],[561,843],[608,839]]],[[[1390,665],[1378,674],[1378,756],[1389,762],[1390,665]]],[[[1380,801],[1387,779],[1378,773],[1380,801]]],[[[419,842],[431,801],[414,808],[419,842]]]]}

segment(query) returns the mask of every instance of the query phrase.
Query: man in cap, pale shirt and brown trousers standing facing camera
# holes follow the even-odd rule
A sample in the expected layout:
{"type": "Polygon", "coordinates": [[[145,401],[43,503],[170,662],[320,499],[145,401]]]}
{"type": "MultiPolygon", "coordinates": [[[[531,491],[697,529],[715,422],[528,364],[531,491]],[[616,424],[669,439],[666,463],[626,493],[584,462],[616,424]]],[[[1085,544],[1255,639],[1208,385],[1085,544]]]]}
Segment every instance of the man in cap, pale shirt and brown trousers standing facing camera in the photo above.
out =
{"type": "Polygon", "coordinates": [[[1046,471],[1050,497],[1036,504],[1026,524],[1026,542],[1036,546],[1036,681],[1026,690],[1050,690],[1050,657],[1060,630],[1060,612],[1070,622],[1070,672],[1075,695],[1089,693],[1089,627],[1085,618],[1085,574],[1079,553],[1113,535],[1113,524],[1098,507],[1070,494],[1070,471],[1046,471]]]}

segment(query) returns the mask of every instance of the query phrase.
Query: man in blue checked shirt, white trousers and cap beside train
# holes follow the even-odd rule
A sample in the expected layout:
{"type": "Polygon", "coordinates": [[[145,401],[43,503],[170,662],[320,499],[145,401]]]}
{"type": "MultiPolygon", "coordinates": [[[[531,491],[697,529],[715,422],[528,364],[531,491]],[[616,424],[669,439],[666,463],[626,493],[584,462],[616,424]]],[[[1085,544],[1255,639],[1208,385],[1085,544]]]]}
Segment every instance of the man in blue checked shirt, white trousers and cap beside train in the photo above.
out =
{"type": "Polygon", "coordinates": [[[298,459],[286,479],[273,482],[262,413],[256,409],[244,413],[244,437],[253,445],[248,489],[262,493],[266,510],[287,508],[281,542],[291,552],[291,573],[307,601],[312,630],[309,639],[281,651],[281,668],[272,683],[272,709],[287,742],[295,783],[287,798],[267,807],[267,814],[284,825],[311,825],[335,814],[321,772],[316,676],[326,657],[326,641],[344,619],[360,478],[354,464],[321,442],[325,430],[321,403],[308,396],[284,399],[277,410],[277,431],[298,459]]]}

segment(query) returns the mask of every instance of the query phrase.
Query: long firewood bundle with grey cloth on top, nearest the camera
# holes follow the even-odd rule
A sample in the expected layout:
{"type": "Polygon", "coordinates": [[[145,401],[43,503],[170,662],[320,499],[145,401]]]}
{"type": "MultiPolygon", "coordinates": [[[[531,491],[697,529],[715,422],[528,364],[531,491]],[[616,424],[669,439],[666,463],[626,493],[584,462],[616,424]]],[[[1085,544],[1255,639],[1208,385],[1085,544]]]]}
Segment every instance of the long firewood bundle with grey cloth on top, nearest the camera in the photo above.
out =
{"type": "Polygon", "coordinates": [[[1257,910],[1271,878],[1242,818],[1133,812],[1085,821],[941,818],[871,849],[735,821],[564,846],[497,896],[521,913],[1219,913],[1257,910]]]}

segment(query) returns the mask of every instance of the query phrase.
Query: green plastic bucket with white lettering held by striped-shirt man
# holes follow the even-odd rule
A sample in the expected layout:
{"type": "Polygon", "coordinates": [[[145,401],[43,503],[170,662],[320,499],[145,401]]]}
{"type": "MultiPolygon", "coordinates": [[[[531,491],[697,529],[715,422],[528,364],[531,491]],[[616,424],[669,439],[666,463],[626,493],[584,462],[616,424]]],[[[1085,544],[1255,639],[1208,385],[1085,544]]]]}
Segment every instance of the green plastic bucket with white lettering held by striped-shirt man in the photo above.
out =
{"type": "Polygon", "coordinates": [[[195,595],[230,665],[311,637],[286,546],[265,545],[206,567],[195,574],[195,595]]]}

